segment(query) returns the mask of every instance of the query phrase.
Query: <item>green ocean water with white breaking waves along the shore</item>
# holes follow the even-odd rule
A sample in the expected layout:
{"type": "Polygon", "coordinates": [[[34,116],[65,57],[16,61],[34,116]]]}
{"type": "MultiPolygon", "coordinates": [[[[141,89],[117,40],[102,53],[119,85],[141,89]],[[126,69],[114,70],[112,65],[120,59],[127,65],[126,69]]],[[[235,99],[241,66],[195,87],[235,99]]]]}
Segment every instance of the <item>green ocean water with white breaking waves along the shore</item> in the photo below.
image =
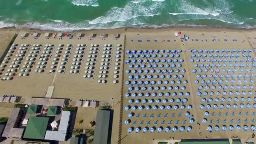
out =
{"type": "Polygon", "coordinates": [[[256,0],[0,0],[0,28],[256,28],[256,0]]]}

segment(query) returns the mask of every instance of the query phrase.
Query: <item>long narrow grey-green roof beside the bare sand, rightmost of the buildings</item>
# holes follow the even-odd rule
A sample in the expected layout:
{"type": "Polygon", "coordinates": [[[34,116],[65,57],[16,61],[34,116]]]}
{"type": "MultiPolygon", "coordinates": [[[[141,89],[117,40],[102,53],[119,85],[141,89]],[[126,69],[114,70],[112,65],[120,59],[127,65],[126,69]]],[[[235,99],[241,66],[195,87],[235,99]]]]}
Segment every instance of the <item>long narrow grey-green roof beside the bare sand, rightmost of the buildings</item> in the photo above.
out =
{"type": "Polygon", "coordinates": [[[110,144],[110,115],[111,113],[109,110],[99,110],[97,112],[93,144],[110,144]]]}

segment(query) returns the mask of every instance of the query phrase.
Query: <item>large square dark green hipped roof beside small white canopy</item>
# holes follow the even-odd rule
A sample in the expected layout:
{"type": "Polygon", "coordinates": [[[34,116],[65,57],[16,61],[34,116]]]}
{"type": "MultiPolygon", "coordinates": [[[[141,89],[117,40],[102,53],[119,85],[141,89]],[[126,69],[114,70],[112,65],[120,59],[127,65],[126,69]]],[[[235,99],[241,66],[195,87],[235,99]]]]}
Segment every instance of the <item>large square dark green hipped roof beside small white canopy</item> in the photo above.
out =
{"type": "Polygon", "coordinates": [[[48,121],[48,117],[29,117],[23,138],[44,139],[48,121]]]}

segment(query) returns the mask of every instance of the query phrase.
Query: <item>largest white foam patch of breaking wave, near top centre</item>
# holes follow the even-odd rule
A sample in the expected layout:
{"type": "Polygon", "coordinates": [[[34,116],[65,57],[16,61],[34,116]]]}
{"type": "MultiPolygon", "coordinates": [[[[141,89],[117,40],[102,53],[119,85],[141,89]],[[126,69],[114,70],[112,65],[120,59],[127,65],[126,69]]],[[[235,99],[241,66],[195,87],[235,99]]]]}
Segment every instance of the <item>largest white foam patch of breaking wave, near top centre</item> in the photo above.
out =
{"type": "Polygon", "coordinates": [[[123,8],[112,8],[104,16],[100,16],[92,21],[89,21],[89,24],[127,21],[140,16],[149,17],[160,15],[159,9],[161,6],[161,2],[152,3],[151,5],[147,5],[147,7],[141,3],[134,4],[133,2],[129,2],[123,8]]]}

